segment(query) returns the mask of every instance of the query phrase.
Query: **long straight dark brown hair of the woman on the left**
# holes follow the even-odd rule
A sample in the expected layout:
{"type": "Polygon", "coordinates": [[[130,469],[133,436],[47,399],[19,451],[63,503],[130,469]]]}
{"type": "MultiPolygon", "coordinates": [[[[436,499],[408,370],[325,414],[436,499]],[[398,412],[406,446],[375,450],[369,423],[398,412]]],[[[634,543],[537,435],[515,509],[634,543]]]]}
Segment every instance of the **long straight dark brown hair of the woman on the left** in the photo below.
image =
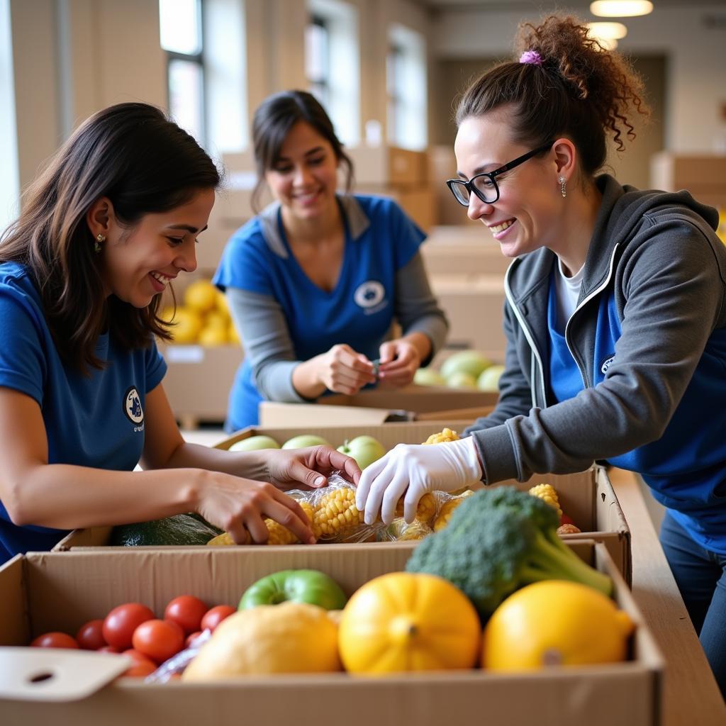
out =
{"type": "Polygon", "coordinates": [[[131,228],[145,214],[174,209],[219,183],[195,139],[144,103],[99,111],[62,145],[0,237],[0,262],[28,267],[66,363],[83,372],[102,368],[94,351],[105,327],[127,350],[149,346],[152,335],[171,338],[157,315],[159,295],[144,309],[106,297],[86,224],[91,206],[108,197],[119,223],[131,228]]]}

